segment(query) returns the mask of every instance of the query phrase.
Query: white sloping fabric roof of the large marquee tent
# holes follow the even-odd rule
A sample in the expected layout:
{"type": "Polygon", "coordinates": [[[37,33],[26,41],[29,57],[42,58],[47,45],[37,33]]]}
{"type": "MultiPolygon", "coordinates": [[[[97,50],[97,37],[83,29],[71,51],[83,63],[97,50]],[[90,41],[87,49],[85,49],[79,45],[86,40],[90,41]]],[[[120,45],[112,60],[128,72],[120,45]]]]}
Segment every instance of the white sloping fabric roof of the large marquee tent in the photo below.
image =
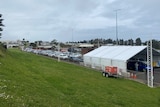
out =
{"type": "Polygon", "coordinates": [[[101,46],[84,56],[127,61],[147,46],[101,46]]]}

